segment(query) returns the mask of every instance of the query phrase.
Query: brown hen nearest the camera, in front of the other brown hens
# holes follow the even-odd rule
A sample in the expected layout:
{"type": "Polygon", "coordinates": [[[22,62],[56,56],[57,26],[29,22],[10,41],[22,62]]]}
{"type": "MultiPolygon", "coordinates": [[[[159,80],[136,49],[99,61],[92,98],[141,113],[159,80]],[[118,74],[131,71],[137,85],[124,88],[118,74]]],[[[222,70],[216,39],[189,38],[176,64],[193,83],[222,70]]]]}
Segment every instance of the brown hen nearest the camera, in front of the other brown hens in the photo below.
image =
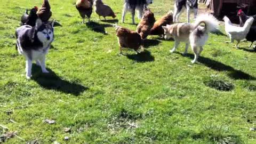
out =
{"type": "Polygon", "coordinates": [[[114,27],[116,28],[116,35],[118,37],[118,43],[120,47],[120,54],[123,54],[123,47],[133,49],[138,53],[143,51],[143,47],[141,47],[142,39],[136,31],[132,31],[117,25],[114,25],[114,27]],[[141,51],[139,50],[140,47],[141,51]]]}

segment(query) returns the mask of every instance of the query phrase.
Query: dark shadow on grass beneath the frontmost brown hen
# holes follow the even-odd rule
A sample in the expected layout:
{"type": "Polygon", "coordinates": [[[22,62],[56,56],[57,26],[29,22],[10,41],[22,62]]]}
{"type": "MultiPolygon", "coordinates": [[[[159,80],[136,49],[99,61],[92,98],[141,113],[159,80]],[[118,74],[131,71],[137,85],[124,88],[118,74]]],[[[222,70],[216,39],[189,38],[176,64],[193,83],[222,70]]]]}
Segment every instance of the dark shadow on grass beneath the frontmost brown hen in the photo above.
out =
{"type": "Polygon", "coordinates": [[[138,54],[126,54],[126,57],[136,62],[150,62],[155,60],[155,57],[147,50],[138,54]]]}

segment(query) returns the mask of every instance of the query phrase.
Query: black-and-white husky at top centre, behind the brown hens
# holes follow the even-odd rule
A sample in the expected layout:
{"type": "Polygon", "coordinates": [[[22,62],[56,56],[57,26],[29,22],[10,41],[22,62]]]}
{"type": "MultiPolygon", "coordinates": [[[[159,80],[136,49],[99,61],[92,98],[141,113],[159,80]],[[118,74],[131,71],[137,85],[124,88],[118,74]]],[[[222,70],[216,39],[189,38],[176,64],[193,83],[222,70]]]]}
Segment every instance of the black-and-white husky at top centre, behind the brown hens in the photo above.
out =
{"type": "Polygon", "coordinates": [[[124,8],[123,8],[123,15],[122,15],[122,22],[124,23],[124,17],[127,11],[132,13],[132,23],[134,24],[134,15],[135,10],[138,11],[138,19],[140,20],[143,16],[143,8],[149,4],[152,4],[153,0],[125,0],[124,1],[124,8]]]}

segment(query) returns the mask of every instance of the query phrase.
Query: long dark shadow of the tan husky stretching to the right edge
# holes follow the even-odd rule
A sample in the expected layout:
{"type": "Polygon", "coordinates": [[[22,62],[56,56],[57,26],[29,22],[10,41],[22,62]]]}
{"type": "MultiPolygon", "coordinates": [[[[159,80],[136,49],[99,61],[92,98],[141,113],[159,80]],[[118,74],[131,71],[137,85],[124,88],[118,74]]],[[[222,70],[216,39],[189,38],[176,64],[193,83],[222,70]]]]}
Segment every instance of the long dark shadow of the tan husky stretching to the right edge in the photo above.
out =
{"type": "MultiPolygon", "coordinates": [[[[178,53],[178,52],[176,52],[178,53]]],[[[182,55],[182,53],[179,53],[182,55]]],[[[194,54],[186,54],[185,57],[189,57],[191,59],[194,59],[194,54]]],[[[217,71],[229,71],[228,76],[233,79],[246,79],[246,80],[255,80],[256,78],[254,76],[251,76],[250,74],[244,73],[241,70],[234,69],[231,66],[225,65],[224,63],[221,63],[219,61],[211,60],[209,58],[205,58],[202,56],[199,56],[198,62],[202,63],[203,65],[217,70],[217,71]]]]}

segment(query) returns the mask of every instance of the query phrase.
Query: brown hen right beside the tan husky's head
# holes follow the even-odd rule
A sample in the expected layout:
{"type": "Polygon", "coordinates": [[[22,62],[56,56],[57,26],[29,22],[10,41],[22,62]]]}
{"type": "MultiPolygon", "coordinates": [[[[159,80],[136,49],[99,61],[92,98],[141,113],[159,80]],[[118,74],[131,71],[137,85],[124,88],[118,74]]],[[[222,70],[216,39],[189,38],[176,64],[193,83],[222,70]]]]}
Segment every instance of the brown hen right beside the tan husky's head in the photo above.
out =
{"type": "Polygon", "coordinates": [[[161,19],[154,23],[153,28],[150,30],[150,35],[164,35],[164,29],[162,26],[173,24],[173,13],[170,11],[165,14],[161,19]]]}

